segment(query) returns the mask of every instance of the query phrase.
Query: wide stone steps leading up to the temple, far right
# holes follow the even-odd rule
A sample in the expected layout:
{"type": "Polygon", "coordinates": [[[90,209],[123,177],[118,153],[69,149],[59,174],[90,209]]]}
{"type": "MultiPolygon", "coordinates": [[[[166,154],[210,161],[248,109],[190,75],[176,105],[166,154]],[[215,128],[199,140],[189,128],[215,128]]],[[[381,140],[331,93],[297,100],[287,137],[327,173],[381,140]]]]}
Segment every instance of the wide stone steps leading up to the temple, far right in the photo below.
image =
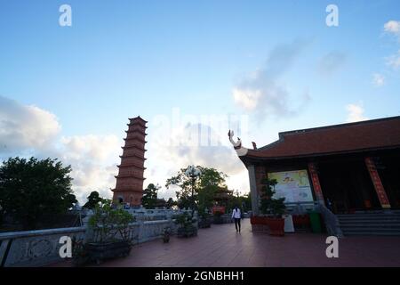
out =
{"type": "Polygon", "coordinates": [[[337,215],[344,236],[400,235],[400,211],[356,212],[337,215]]]}

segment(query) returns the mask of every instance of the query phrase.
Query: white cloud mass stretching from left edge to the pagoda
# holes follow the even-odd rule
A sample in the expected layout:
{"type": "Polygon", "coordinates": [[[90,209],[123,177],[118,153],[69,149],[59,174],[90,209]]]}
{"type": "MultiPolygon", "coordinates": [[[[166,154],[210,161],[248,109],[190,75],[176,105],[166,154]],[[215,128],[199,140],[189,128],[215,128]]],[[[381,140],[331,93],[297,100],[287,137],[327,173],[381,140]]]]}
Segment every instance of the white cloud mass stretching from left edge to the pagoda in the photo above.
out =
{"type": "Polygon", "coordinates": [[[60,137],[54,114],[0,96],[0,159],[13,156],[60,159],[71,165],[73,190],[80,202],[90,191],[111,197],[122,140],[116,135],[60,137]]]}

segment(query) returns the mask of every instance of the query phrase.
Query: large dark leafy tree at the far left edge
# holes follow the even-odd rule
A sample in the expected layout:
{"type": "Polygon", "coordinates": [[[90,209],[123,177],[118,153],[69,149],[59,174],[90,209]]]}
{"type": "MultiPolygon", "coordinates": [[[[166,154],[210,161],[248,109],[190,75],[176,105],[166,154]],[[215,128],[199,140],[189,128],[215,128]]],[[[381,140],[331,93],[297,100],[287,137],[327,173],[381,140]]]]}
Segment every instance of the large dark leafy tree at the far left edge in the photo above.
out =
{"type": "Polygon", "coordinates": [[[71,167],[57,159],[10,158],[0,167],[0,205],[25,230],[43,216],[65,214],[76,203],[71,167]]]}

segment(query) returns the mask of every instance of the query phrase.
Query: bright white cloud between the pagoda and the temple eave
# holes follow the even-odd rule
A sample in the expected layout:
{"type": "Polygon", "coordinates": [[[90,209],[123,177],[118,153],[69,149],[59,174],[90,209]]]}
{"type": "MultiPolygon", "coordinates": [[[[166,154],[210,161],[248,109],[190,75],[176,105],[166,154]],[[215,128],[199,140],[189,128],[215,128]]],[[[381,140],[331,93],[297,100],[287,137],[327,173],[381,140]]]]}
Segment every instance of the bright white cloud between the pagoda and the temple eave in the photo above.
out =
{"type": "MultiPolygon", "coordinates": [[[[172,130],[173,140],[175,142],[190,142],[190,137],[196,136],[200,124],[186,125],[176,127],[172,130]]],[[[204,128],[204,126],[201,126],[204,128]]],[[[215,136],[213,142],[218,141],[216,145],[198,145],[193,143],[175,143],[162,139],[165,135],[157,134],[160,138],[149,139],[148,153],[148,171],[146,184],[160,183],[163,189],[159,191],[161,197],[169,198],[175,196],[175,190],[165,190],[164,183],[167,178],[188,165],[200,165],[203,167],[214,167],[227,174],[227,184],[229,189],[238,189],[241,192],[249,191],[249,179],[244,164],[237,157],[236,152],[230,146],[223,145],[221,140],[228,141],[228,135],[223,137],[211,130],[210,134],[215,136]]],[[[225,133],[224,133],[225,134],[225,133]]],[[[166,134],[168,135],[168,134],[166,134]]]]}

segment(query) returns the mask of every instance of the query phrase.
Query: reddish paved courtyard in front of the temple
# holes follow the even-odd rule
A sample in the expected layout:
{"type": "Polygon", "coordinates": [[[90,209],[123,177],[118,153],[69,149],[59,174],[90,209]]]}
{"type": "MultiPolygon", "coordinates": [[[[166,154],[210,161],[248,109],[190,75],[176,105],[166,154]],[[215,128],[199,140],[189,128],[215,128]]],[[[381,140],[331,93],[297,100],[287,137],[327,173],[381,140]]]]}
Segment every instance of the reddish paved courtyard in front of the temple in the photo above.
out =
{"type": "Polygon", "coordinates": [[[213,224],[194,238],[150,241],[100,266],[400,266],[400,237],[346,237],[339,240],[339,258],[327,258],[325,235],[271,237],[252,233],[249,219],[242,223],[241,233],[234,224],[213,224]]]}

